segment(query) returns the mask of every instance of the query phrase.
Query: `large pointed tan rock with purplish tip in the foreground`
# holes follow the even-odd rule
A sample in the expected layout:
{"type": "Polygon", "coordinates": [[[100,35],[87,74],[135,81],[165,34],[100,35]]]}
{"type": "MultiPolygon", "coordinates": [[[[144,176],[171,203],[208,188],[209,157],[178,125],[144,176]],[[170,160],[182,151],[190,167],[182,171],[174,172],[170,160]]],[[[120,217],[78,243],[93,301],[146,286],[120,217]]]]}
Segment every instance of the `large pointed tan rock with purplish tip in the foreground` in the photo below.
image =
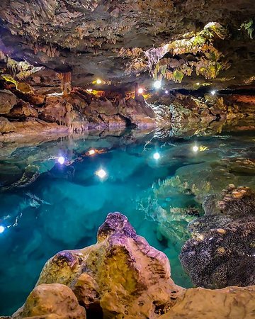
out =
{"type": "Polygon", "coordinates": [[[79,291],[79,303],[88,313],[98,313],[94,305],[99,299],[104,318],[142,319],[154,318],[159,308],[166,312],[183,291],[170,275],[166,255],[138,236],[125,216],[111,213],[98,230],[96,245],[56,254],[38,284],[58,282],[79,291]]]}

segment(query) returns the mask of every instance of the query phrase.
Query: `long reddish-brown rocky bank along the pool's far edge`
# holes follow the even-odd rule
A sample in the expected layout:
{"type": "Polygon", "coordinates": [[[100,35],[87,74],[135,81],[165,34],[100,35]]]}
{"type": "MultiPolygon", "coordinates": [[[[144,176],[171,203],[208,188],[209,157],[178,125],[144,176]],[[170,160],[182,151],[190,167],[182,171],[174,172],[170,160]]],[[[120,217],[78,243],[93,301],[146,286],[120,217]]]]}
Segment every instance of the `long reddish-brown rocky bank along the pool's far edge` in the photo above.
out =
{"type": "MultiPolygon", "coordinates": [[[[6,84],[7,85],[7,84],[6,84]]],[[[0,141],[68,135],[87,130],[126,127],[171,127],[181,132],[194,123],[207,127],[217,121],[254,121],[254,96],[196,98],[178,92],[130,95],[73,89],[69,94],[23,93],[13,87],[0,90],[0,141]]]]}

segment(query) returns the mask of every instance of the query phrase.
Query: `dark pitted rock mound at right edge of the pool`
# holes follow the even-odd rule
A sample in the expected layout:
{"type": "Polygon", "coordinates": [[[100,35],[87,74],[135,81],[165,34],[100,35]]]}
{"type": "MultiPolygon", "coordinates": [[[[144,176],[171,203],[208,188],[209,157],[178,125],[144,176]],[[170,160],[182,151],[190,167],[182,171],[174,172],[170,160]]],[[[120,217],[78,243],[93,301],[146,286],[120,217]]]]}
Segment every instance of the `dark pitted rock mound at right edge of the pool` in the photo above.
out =
{"type": "Polygon", "coordinates": [[[193,284],[205,288],[255,284],[255,192],[229,185],[203,203],[205,215],[189,225],[193,237],[180,259],[193,284]]]}

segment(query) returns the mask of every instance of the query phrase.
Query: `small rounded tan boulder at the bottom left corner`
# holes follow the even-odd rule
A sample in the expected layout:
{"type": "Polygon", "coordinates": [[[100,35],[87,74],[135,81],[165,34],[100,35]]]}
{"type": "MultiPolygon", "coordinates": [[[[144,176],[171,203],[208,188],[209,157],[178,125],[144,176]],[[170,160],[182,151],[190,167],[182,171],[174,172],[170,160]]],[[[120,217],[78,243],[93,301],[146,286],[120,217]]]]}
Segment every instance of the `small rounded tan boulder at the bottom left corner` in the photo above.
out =
{"type": "Polygon", "coordinates": [[[13,319],[86,319],[86,311],[79,306],[77,297],[62,284],[42,284],[35,287],[23,307],[13,319]]]}

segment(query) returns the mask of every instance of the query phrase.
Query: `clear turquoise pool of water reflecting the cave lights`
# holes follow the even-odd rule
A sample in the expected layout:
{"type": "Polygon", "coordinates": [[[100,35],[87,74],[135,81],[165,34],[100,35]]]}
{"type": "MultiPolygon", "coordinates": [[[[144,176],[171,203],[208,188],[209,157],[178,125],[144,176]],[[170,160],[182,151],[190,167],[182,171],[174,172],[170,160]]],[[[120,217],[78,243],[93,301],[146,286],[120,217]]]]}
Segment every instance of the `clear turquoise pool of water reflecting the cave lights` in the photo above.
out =
{"type": "Polygon", "coordinates": [[[207,194],[255,185],[254,140],[249,130],[191,137],[131,130],[3,144],[1,315],[23,304],[53,254],[95,243],[113,211],[169,257],[176,284],[192,286],[178,257],[188,223],[203,214],[207,194]]]}

